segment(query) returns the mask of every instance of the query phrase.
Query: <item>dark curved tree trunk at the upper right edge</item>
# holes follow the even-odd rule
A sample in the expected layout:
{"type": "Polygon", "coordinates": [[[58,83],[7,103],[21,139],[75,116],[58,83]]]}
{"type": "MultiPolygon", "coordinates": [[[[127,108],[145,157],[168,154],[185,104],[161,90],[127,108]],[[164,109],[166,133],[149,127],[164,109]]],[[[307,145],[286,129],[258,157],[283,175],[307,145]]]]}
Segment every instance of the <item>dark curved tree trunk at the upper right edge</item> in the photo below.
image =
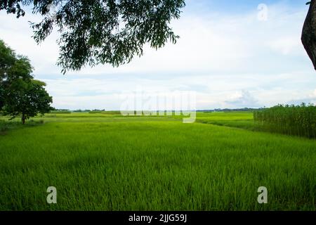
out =
{"type": "Polygon", "coordinates": [[[316,70],[316,2],[310,1],[310,8],[306,16],[302,31],[302,43],[305,50],[312,60],[312,64],[316,70]]]}

